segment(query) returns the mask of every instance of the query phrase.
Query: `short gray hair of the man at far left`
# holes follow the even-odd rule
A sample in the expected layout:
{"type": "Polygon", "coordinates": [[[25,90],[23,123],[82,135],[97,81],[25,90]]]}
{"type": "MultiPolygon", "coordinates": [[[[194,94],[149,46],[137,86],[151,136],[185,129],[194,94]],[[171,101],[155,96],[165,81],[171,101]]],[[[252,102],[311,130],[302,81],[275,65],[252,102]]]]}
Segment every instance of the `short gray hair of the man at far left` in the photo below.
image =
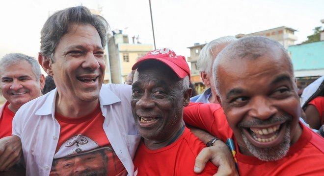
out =
{"type": "MultiPolygon", "coordinates": [[[[39,81],[40,76],[42,75],[40,66],[35,58],[27,56],[22,53],[10,53],[6,54],[1,60],[0,60],[0,69],[18,64],[22,61],[27,61],[31,66],[31,71],[34,73],[36,77],[36,81],[39,81]]],[[[1,71],[0,71],[1,74],[1,71]]],[[[0,75],[1,76],[1,75],[0,75]]]]}

